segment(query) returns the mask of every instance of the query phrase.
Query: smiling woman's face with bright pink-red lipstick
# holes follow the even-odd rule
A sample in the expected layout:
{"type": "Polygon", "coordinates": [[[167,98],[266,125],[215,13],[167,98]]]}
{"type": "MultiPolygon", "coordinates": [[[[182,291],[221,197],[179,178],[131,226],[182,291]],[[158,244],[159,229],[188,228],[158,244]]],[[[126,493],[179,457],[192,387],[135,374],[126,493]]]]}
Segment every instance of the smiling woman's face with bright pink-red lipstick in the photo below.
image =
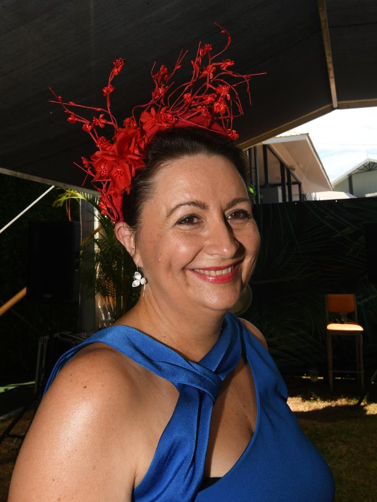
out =
{"type": "Polygon", "coordinates": [[[250,279],[260,240],[237,169],[198,154],[166,163],[154,181],[134,258],[147,292],[177,307],[229,309],[250,279]]]}

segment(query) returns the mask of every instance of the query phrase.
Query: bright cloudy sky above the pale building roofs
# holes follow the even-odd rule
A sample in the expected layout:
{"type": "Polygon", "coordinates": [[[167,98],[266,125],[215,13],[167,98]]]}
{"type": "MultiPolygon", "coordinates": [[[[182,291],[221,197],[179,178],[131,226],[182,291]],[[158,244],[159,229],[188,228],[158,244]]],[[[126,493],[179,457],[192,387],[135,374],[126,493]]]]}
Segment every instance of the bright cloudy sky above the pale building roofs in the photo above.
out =
{"type": "Polygon", "coordinates": [[[377,159],[377,107],[334,110],[290,133],[309,133],[330,181],[367,157],[377,159]]]}

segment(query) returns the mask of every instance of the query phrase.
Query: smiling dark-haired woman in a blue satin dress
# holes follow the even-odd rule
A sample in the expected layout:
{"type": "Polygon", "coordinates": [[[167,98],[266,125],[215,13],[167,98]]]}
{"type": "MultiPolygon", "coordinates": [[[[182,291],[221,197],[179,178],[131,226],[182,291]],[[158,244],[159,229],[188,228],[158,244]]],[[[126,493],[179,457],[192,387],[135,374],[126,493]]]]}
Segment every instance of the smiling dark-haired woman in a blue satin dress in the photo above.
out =
{"type": "Polygon", "coordinates": [[[214,129],[154,132],[121,208],[105,187],[143,294],[55,365],[9,502],[333,499],[263,336],[227,313],[259,234],[243,153],[214,129]]]}

